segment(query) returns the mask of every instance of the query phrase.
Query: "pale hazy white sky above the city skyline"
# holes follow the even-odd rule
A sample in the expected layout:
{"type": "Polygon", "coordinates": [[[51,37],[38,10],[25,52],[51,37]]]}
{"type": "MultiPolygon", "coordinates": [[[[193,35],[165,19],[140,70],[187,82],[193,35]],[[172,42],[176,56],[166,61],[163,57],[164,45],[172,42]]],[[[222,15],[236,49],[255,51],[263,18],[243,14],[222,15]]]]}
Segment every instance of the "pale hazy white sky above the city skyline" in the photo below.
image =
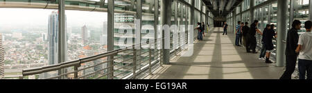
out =
{"type": "MultiPolygon", "coordinates": [[[[49,14],[57,10],[27,9],[27,8],[0,8],[0,28],[11,26],[46,26],[48,27],[49,14]]],[[[106,12],[85,12],[78,10],[65,10],[67,25],[93,25],[103,27],[107,21],[106,12]]]]}

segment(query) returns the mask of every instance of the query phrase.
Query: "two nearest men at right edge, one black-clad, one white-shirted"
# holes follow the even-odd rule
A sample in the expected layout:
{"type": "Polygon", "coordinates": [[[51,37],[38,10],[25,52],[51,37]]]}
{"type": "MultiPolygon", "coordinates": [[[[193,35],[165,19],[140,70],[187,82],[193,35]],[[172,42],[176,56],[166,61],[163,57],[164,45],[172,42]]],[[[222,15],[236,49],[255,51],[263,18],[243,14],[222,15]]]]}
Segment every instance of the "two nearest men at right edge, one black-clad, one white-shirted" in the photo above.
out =
{"type": "Polygon", "coordinates": [[[280,79],[291,79],[298,61],[299,79],[312,79],[312,21],[304,22],[306,32],[299,36],[301,22],[293,21],[292,28],[286,38],[286,70],[280,79]]]}

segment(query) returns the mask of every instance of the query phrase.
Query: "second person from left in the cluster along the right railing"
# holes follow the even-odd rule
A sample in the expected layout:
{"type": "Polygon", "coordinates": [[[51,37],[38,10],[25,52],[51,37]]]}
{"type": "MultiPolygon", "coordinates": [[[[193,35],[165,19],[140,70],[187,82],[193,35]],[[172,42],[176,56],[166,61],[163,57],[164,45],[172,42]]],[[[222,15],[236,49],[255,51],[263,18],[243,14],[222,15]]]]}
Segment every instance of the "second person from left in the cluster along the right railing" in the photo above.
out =
{"type": "Polygon", "coordinates": [[[248,22],[245,22],[245,26],[243,26],[243,44],[245,45],[246,52],[250,52],[249,44],[248,44],[248,32],[250,28],[248,27],[248,22]]]}

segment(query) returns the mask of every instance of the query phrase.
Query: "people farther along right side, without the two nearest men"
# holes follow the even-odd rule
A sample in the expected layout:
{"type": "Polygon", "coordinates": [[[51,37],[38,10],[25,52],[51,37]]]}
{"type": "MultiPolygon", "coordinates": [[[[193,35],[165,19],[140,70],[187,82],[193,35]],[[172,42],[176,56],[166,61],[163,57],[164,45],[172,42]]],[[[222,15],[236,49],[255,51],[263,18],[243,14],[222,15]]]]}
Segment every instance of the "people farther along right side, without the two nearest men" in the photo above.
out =
{"type": "MultiPolygon", "coordinates": [[[[238,21],[237,23],[238,24],[236,25],[236,29],[235,29],[235,34],[236,34],[235,45],[236,46],[244,45],[246,48],[246,52],[257,54],[258,53],[256,51],[257,38],[255,37],[255,35],[256,33],[259,33],[262,35],[262,41],[261,41],[262,48],[261,48],[259,59],[265,60],[266,63],[272,63],[272,61],[270,61],[269,59],[270,59],[270,52],[272,52],[274,49],[272,39],[273,37],[275,38],[277,37],[277,33],[274,30],[275,25],[274,24],[266,25],[266,28],[264,28],[263,32],[261,32],[257,28],[257,25],[259,23],[258,20],[255,20],[250,25],[250,27],[248,27],[248,24],[249,24],[248,22],[243,23],[241,21],[238,21]],[[266,58],[264,58],[264,56],[266,56],[266,58]]],[[[225,22],[225,25],[227,25],[226,22],[225,22]]],[[[227,31],[224,30],[223,33],[226,34],[227,31]]]]}

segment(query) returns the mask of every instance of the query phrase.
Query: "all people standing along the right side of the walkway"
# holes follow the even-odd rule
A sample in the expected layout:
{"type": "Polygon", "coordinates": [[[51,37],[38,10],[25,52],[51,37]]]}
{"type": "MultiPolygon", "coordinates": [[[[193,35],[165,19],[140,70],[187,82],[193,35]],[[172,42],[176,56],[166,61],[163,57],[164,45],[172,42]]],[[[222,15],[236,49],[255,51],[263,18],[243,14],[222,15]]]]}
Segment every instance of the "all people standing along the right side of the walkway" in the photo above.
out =
{"type": "MultiPolygon", "coordinates": [[[[274,46],[272,43],[272,39],[277,38],[277,32],[275,32],[275,25],[266,25],[263,32],[261,32],[258,28],[259,21],[255,20],[254,23],[248,27],[248,22],[241,23],[238,21],[236,25],[236,39],[235,45],[241,46],[244,45],[246,48],[246,52],[250,52],[257,54],[256,52],[256,37],[255,34],[258,32],[262,35],[262,48],[259,55],[260,60],[265,60],[266,63],[272,63],[270,61],[270,52],[273,51],[274,46]],[[243,39],[243,41],[242,41],[243,39]],[[242,44],[243,42],[243,44],[242,44]],[[241,44],[241,45],[240,45],[241,44]],[[266,56],[266,58],[264,58],[266,56]]],[[[227,34],[227,24],[225,22],[223,35],[227,34]]],[[[298,35],[298,31],[301,28],[301,22],[298,20],[293,21],[292,28],[287,32],[286,39],[286,70],[280,79],[291,79],[291,75],[295,71],[295,65],[297,62],[297,58],[299,56],[298,61],[298,70],[299,70],[299,78],[312,79],[312,21],[306,21],[304,23],[304,28],[306,32],[304,34],[298,35]]]]}

